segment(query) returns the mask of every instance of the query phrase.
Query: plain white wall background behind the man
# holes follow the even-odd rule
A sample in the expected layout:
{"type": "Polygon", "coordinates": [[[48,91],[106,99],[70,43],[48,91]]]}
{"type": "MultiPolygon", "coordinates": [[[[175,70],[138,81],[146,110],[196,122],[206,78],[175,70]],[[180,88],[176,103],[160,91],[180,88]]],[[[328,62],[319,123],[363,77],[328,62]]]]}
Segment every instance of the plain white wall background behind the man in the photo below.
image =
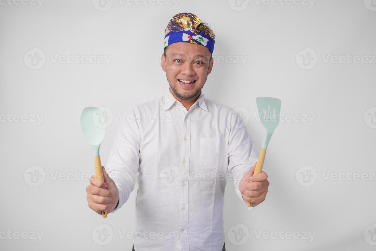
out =
{"type": "Polygon", "coordinates": [[[105,164],[118,114],[168,90],[159,64],[164,29],[173,15],[191,12],[216,35],[205,96],[243,111],[257,148],[265,129],[254,115],[255,98],[281,99],[281,114],[287,116],[268,146],[266,200],[248,211],[233,182],[227,183],[226,249],[374,250],[374,0],[246,0],[238,1],[239,7],[234,0],[180,0],[176,6],[172,0],[110,0],[103,8],[98,1],[0,1],[0,249],[131,250],[132,239],[118,231],[134,231],[137,185],[129,201],[103,219],[87,205],[88,178],[64,175],[94,172],[92,150],[79,126],[83,107],[112,111],[100,148],[105,164]],[[35,52],[41,51],[38,57],[35,52]],[[53,60],[76,53],[111,60],[107,66],[53,60]],[[342,63],[332,57],[347,54],[350,59],[342,57],[342,63]],[[44,63],[33,66],[30,56],[44,63]],[[355,63],[354,56],[366,58],[355,63]],[[26,114],[26,122],[11,119],[15,114],[26,114]],[[33,115],[43,116],[40,124],[33,115]],[[294,115],[294,121],[288,119],[294,115]],[[30,172],[37,174],[35,169],[41,184],[33,187],[30,172]],[[328,173],[346,176],[336,180],[328,173]],[[368,178],[353,180],[354,173],[368,178]],[[113,231],[107,246],[96,238],[101,224],[113,231]],[[232,230],[244,233],[245,244],[239,245],[232,230]],[[29,237],[16,239],[6,231],[25,231],[29,237]],[[260,231],[266,234],[257,238],[260,231]],[[301,237],[267,237],[275,231],[301,237]],[[302,237],[305,231],[315,234],[313,240],[302,237]],[[43,236],[38,242],[30,232],[43,236]]]}

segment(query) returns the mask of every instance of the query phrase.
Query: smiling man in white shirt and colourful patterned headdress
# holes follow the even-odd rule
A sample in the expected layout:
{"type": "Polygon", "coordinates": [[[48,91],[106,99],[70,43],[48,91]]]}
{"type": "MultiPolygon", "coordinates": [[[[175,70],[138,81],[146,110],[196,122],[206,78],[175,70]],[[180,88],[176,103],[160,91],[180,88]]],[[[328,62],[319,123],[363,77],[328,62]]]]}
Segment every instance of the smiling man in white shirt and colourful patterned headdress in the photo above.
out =
{"type": "Polygon", "coordinates": [[[166,28],[164,49],[170,88],[129,109],[103,167],[105,181],[90,179],[88,204],[99,214],[118,210],[139,172],[133,250],[225,250],[227,171],[252,207],[265,200],[267,175],[253,176],[258,154],[238,114],[201,92],[213,67],[212,30],[179,13],[166,28]]]}

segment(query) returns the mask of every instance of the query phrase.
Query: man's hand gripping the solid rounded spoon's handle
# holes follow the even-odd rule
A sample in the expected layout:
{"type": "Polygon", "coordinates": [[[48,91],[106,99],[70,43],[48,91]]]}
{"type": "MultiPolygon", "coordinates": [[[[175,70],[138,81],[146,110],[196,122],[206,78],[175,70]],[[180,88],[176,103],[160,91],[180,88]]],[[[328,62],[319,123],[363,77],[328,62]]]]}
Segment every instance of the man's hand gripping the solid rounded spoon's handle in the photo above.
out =
{"type": "Polygon", "coordinates": [[[88,200],[89,207],[102,214],[102,211],[107,210],[111,213],[116,207],[119,199],[119,190],[113,181],[106,173],[105,167],[102,166],[104,182],[97,178],[97,176],[90,177],[90,185],[86,187],[86,199],[88,200]]]}

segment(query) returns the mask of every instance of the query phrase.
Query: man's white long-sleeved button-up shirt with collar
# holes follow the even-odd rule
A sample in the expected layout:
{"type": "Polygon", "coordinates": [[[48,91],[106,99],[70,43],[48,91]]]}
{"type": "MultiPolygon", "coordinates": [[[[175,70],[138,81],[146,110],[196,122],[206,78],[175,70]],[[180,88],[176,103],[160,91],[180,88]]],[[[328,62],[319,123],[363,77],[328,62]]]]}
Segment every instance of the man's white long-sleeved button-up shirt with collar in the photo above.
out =
{"type": "Polygon", "coordinates": [[[114,212],[128,200],[139,172],[135,250],[221,251],[226,180],[246,207],[238,184],[257,157],[235,110],[203,93],[189,111],[170,90],[132,106],[106,171],[119,190],[114,212]]]}

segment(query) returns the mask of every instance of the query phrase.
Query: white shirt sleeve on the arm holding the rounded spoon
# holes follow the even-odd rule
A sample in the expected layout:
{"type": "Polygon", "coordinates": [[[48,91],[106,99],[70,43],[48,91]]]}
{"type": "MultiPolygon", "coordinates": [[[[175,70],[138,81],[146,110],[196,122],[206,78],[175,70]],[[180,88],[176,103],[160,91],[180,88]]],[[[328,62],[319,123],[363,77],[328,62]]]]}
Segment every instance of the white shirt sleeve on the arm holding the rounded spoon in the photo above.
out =
{"type": "Polygon", "coordinates": [[[106,172],[119,190],[119,204],[113,212],[127,202],[130,192],[135,187],[139,167],[141,145],[139,127],[133,108],[128,111],[124,121],[120,123],[106,165],[106,172]]]}

